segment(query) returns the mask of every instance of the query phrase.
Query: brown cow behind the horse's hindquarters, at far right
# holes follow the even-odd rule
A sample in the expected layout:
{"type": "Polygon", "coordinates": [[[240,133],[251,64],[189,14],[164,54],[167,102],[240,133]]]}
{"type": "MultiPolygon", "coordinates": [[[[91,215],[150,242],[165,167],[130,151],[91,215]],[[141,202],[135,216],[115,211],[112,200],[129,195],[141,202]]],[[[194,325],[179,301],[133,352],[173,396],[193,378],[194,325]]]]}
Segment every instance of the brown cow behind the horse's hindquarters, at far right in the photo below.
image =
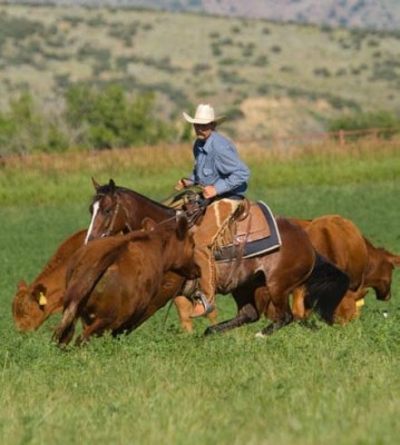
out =
{"type": "MultiPolygon", "coordinates": [[[[340,215],[293,220],[305,229],[315,249],[350,278],[349,289],[335,309],[338,323],[348,323],[359,315],[359,305],[368,288],[375,290],[378,299],[390,298],[393,267],[400,265],[399,256],[374,247],[351,220],[340,215]]],[[[295,319],[310,315],[311,308],[304,304],[301,288],[294,291],[292,310],[295,319]]]]}

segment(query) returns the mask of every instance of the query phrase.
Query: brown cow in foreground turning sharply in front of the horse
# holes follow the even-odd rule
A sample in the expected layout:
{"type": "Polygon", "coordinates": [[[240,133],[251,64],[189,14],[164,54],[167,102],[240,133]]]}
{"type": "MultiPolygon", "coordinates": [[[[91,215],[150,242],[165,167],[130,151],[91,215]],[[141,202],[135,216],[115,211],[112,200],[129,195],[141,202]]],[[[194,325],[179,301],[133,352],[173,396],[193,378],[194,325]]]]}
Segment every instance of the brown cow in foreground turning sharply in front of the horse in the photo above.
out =
{"type": "Polygon", "coordinates": [[[78,318],[84,330],[77,344],[106,330],[129,333],[170,298],[162,291],[167,271],[187,279],[199,276],[185,216],[158,225],[147,219],[145,225],[150,226],[146,231],[96,239],[72,256],[56,342],[71,340],[78,318]]]}

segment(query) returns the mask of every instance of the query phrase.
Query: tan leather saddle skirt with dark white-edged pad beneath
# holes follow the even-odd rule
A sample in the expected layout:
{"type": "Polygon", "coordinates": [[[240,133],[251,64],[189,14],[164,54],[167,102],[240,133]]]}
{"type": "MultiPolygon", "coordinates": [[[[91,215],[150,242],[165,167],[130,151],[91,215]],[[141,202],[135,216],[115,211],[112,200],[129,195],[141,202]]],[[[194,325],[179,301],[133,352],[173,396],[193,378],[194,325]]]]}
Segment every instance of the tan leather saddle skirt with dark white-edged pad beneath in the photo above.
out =
{"type": "Polygon", "coordinates": [[[233,226],[233,243],[215,250],[217,261],[231,261],[238,256],[251,258],[277,250],[281,236],[269,206],[263,201],[252,202],[248,215],[233,226]]]}

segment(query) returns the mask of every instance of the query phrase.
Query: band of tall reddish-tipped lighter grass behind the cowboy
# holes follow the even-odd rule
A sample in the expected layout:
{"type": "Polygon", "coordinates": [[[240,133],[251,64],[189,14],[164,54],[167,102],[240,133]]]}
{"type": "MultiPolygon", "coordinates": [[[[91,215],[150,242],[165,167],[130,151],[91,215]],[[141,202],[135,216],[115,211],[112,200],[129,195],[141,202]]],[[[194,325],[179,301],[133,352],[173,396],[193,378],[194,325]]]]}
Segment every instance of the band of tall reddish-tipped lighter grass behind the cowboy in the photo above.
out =
{"type": "MultiPolygon", "coordinates": [[[[306,148],[263,149],[255,144],[240,147],[252,169],[250,197],[265,187],[281,189],[399,178],[399,141],[335,144],[306,148]]],[[[0,204],[81,202],[92,191],[90,177],[162,199],[174,192],[177,178],[192,170],[189,145],[162,145],[130,150],[68,152],[7,158],[0,175],[0,204]],[[35,187],[32,187],[35,185],[35,187]]]]}

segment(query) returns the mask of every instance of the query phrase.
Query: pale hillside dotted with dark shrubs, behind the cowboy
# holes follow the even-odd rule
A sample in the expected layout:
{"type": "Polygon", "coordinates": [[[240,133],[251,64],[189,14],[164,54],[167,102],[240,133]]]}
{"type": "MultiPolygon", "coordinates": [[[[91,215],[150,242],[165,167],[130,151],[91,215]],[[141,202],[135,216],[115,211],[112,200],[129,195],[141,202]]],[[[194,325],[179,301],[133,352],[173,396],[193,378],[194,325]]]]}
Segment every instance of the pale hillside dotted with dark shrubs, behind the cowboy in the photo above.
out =
{"type": "Polygon", "coordinates": [[[133,9],[0,6],[0,107],[29,89],[57,113],[71,83],[150,90],[182,125],[199,101],[242,138],[323,130],[364,110],[400,112],[399,34],[133,9]]]}

